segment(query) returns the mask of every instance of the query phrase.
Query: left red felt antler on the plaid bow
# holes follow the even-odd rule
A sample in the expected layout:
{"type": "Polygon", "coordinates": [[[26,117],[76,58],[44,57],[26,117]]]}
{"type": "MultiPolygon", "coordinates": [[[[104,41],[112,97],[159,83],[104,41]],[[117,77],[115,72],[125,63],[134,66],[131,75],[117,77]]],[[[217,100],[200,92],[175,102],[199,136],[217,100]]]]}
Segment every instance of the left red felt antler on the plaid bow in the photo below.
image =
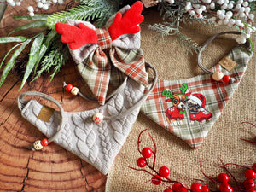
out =
{"type": "Polygon", "coordinates": [[[79,23],[78,27],[56,23],[55,30],[61,34],[61,42],[69,44],[70,49],[79,49],[85,44],[98,44],[96,31],[83,23],[79,23]]]}

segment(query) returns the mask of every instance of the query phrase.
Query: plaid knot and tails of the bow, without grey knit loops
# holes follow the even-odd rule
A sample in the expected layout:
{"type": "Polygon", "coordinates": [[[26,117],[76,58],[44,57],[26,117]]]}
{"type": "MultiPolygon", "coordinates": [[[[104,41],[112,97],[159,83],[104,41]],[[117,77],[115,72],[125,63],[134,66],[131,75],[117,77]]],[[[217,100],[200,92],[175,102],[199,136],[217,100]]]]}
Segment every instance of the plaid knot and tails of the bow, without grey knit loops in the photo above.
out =
{"type": "Polygon", "coordinates": [[[78,69],[98,102],[104,105],[109,82],[116,87],[124,80],[124,75],[119,72],[148,86],[143,51],[113,47],[106,28],[96,29],[96,34],[98,47],[82,63],[79,63],[78,69]],[[115,68],[119,69],[119,72],[115,68]]]}

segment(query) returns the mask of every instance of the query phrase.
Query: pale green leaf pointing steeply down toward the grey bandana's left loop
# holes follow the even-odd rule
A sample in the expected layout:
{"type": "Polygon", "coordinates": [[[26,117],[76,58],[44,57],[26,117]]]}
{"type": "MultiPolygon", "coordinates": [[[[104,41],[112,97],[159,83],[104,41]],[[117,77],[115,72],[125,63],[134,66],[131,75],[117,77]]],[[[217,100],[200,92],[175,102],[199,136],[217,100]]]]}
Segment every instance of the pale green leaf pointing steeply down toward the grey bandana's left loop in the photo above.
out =
{"type": "Polygon", "coordinates": [[[38,54],[39,54],[41,45],[43,43],[43,40],[44,40],[44,33],[41,32],[39,34],[38,38],[35,38],[35,40],[33,41],[33,44],[30,49],[29,59],[26,64],[26,71],[25,71],[24,77],[22,79],[22,83],[20,85],[20,90],[26,83],[26,79],[29,77],[30,73],[32,72],[33,67],[35,66],[36,62],[38,61],[38,54]]]}

